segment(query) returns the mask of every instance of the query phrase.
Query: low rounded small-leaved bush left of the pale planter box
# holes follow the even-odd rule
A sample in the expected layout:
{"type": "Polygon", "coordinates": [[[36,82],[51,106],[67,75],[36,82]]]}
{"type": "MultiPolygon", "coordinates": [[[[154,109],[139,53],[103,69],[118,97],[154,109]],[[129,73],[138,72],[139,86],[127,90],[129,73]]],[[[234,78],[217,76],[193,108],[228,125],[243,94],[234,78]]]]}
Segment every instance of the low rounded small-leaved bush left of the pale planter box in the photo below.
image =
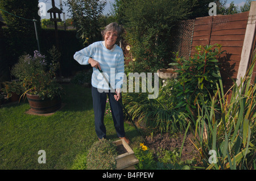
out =
{"type": "Polygon", "coordinates": [[[87,169],[114,170],[116,167],[116,146],[112,141],[103,139],[95,142],[88,151],[87,169]]]}

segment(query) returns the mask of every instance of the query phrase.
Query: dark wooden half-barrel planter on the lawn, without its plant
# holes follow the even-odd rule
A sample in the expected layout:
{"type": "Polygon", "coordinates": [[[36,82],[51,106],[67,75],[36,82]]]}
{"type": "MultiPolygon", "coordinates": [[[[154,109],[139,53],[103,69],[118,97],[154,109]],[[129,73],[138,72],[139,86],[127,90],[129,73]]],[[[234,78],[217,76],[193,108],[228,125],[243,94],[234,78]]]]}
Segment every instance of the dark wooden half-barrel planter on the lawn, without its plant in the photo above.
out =
{"type": "Polygon", "coordinates": [[[53,99],[42,99],[38,95],[27,95],[28,103],[30,104],[31,111],[38,114],[51,113],[60,109],[61,98],[56,97],[53,99]]]}

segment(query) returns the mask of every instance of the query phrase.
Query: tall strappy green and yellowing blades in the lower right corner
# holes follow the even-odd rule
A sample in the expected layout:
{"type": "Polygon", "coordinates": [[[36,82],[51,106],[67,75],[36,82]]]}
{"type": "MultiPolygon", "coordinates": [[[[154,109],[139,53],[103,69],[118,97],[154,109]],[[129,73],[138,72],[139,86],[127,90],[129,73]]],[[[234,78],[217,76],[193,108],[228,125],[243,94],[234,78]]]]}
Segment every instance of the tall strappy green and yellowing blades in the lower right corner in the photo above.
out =
{"type": "Polygon", "coordinates": [[[193,131],[198,139],[193,144],[200,151],[203,162],[208,164],[207,169],[256,169],[256,86],[251,80],[255,60],[254,52],[251,66],[241,84],[235,82],[230,88],[232,96],[229,100],[230,90],[224,94],[219,71],[218,89],[212,96],[210,106],[204,103],[202,94],[196,97],[199,116],[193,121],[193,131]]]}

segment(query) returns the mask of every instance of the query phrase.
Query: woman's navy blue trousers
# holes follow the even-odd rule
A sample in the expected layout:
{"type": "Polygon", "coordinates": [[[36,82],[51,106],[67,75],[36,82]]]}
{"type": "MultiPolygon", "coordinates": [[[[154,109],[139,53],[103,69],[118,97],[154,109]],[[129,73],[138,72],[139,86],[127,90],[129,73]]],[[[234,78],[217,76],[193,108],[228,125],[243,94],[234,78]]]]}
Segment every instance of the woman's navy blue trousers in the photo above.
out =
{"type": "MultiPolygon", "coordinates": [[[[104,125],[104,115],[105,115],[107,94],[109,97],[110,109],[112,112],[114,127],[115,127],[115,131],[117,132],[117,136],[125,137],[125,128],[123,125],[123,108],[117,102],[117,100],[114,99],[114,92],[110,92],[110,90],[98,91],[96,87],[92,86],[94,123],[95,123],[96,134],[100,139],[106,138],[106,127],[104,125]]],[[[122,101],[122,96],[119,101],[122,101]]]]}

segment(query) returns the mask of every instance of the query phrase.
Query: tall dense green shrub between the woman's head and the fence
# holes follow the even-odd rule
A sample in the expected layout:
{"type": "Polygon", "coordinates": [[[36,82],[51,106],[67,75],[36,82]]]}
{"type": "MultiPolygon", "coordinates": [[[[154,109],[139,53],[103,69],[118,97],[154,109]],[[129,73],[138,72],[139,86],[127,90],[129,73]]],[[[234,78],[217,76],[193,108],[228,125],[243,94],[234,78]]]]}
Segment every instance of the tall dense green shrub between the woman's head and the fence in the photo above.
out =
{"type": "Polygon", "coordinates": [[[171,60],[174,26],[179,20],[191,15],[189,2],[191,0],[123,2],[121,9],[124,15],[120,19],[125,23],[125,39],[135,58],[134,71],[156,72],[171,60]]]}

